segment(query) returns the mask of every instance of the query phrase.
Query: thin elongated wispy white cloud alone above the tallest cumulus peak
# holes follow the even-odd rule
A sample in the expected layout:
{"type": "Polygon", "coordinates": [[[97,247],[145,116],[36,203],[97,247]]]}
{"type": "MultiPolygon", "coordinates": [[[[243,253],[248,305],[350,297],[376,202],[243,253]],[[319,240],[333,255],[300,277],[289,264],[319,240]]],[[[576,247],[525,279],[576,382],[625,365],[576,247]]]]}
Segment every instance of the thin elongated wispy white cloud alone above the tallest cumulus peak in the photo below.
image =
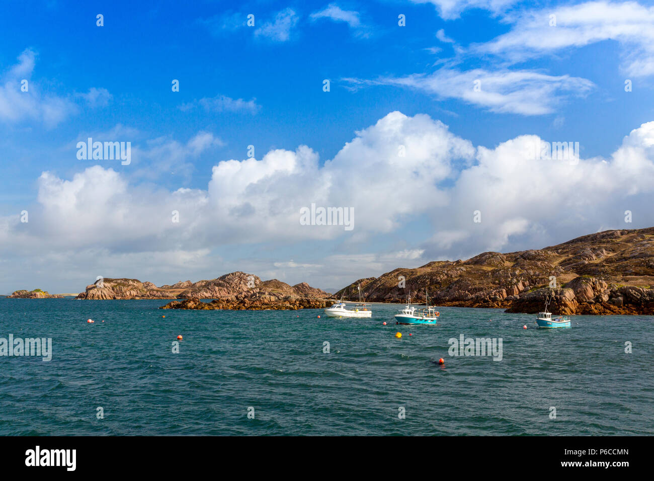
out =
{"type": "Polygon", "coordinates": [[[569,96],[585,96],[594,88],[590,80],[569,75],[553,76],[529,70],[460,71],[448,67],[430,75],[343,80],[354,88],[370,85],[415,88],[438,99],[455,98],[492,112],[520,115],[552,113],[569,96]]]}

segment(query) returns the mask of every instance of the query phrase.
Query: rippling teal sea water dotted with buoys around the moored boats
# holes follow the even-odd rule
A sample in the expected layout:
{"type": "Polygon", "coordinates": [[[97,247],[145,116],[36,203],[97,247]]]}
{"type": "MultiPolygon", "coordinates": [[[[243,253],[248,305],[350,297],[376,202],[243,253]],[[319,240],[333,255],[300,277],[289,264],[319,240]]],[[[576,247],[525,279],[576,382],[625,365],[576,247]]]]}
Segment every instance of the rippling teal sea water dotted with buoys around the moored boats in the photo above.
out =
{"type": "Polygon", "coordinates": [[[163,304],[0,298],[0,338],[52,338],[53,351],[0,357],[0,435],[654,434],[654,317],[550,331],[492,309],[409,327],[393,304],[370,320],[163,304]],[[450,356],[460,334],[502,338],[502,361],[450,356]]]}

